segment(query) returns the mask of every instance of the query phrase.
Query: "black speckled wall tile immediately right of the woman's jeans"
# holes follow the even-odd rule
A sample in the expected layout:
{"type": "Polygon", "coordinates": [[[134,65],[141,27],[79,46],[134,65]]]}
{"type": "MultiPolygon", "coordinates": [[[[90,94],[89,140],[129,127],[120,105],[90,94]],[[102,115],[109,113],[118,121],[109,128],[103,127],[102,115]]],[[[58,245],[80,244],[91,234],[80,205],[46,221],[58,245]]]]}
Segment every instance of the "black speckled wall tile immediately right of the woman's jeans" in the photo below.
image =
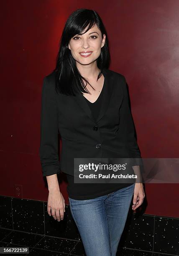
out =
{"type": "Polygon", "coordinates": [[[120,239],[120,247],[153,251],[154,217],[150,215],[128,215],[120,239]],[[121,246],[122,245],[122,246],[121,246]]]}

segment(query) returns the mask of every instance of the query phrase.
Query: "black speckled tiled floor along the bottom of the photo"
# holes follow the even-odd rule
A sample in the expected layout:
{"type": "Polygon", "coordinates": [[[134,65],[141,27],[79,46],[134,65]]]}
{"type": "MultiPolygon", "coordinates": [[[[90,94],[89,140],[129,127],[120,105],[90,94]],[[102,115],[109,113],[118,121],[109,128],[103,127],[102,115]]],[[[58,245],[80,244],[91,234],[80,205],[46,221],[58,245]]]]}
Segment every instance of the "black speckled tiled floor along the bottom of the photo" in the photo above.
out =
{"type": "MultiPolygon", "coordinates": [[[[41,236],[33,233],[26,233],[0,228],[0,247],[29,247],[29,253],[18,255],[43,255],[43,256],[86,256],[81,241],[52,236],[41,236]]],[[[123,248],[116,256],[161,256],[172,254],[160,254],[147,251],[138,251],[123,248]]],[[[105,255],[104,255],[105,256],[105,255]]]]}

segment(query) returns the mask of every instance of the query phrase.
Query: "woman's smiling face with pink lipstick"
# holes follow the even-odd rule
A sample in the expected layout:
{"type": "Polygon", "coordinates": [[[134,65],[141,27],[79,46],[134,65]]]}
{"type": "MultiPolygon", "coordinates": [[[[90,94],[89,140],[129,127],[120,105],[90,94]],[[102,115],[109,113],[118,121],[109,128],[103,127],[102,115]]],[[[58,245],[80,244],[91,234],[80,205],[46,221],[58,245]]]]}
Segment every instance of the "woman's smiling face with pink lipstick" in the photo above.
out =
{"type": "Polygon", "coordinates": [[[69,42],[73,58],[82,65],[88,65],[95,61],[101,53],[101,48],[105,44],[105,34],[95,25],[83,35],[75,35],[69,42]]]}

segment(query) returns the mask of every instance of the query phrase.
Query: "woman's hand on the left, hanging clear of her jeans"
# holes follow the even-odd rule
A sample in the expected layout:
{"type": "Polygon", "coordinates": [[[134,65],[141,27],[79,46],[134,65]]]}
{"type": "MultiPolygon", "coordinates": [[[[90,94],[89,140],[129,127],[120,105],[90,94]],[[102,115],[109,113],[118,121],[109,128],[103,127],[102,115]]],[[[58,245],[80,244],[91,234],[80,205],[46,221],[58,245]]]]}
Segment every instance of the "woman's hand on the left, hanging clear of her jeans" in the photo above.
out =
{"type": "Polygon", "coordinates": [[[52,215],[54,217],[54,220],[57,219],[60,221],[60,219],[64,219],[65,200],[58,189],[49,191],[47,212],[49,213],[49,216],[52,215]]]}

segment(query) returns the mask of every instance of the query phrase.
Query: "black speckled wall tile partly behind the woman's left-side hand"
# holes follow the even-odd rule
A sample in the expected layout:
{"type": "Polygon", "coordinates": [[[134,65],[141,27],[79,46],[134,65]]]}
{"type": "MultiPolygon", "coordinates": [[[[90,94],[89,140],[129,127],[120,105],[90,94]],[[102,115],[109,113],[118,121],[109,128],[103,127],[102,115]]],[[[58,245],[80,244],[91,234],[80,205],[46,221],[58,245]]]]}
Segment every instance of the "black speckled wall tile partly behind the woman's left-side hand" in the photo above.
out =
{"type": "Polygon", "coordinates": [[[59,238],[68,238],[79,241],[79,232],[77,225],[72,219],[72,215],[69,209],[69,205],[66,205],[64,212],[64,219],[54,220],[52,216],[49,216],[47,212],[47,202],[44,202],[45,213],[45,235],[56,236],[59,238]]]}

